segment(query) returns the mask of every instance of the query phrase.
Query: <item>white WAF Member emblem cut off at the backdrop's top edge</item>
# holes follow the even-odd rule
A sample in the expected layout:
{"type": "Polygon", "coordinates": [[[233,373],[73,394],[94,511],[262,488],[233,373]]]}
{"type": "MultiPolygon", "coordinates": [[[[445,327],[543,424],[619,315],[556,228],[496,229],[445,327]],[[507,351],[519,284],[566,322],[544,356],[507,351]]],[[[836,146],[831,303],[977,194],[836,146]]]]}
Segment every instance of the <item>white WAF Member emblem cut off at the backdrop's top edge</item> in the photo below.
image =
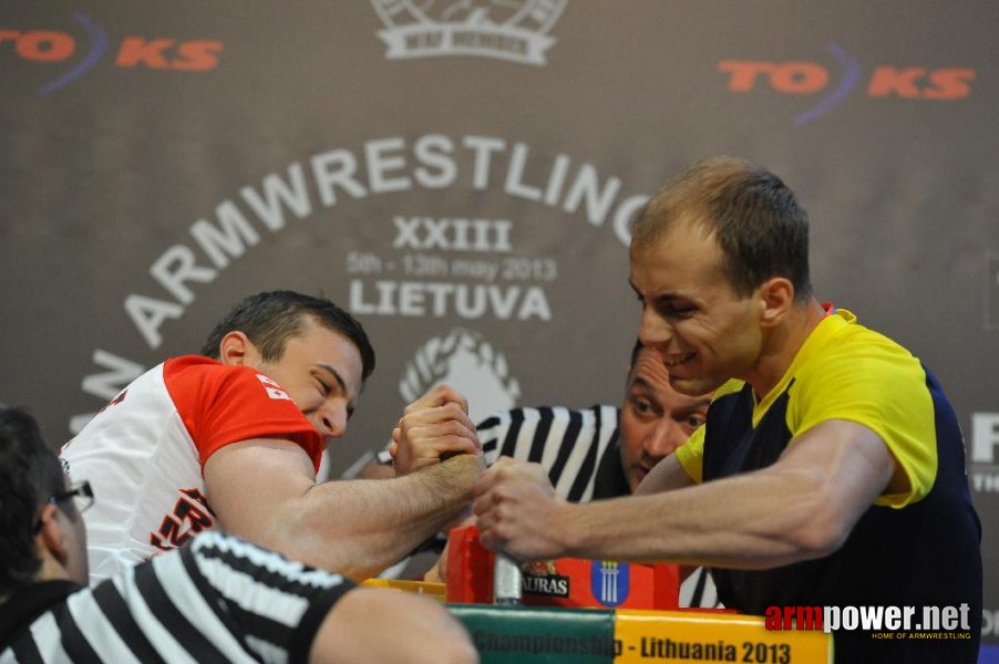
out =
{"type": "Polygon", "coordinates": [[[371,0],[385,58],[477,55],[545,64],[548,31],[567,0],[371,0]]]}

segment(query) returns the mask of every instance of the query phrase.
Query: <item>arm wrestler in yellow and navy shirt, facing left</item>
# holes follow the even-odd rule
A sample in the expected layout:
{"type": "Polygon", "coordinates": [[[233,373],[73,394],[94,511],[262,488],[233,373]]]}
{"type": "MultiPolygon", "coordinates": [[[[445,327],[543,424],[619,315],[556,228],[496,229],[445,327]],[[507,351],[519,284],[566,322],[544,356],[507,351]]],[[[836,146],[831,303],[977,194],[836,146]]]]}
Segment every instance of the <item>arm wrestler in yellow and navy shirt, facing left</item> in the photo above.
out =
{"type": "Polygon", "coordinates": [[[908,351],[813,297],[807,236],[791,189],[746,162],[694,164],[657,193],[632,228],[639,339],[678,392],[718,390],[707,423],[632,497],[570,505],[501,460],[475,490],[482,541],[710,566],[721,601],[758,614],[955,608],[952,640],[841,630],[836,661],[971,664],[981,527],[957,419],[908,351]]]}

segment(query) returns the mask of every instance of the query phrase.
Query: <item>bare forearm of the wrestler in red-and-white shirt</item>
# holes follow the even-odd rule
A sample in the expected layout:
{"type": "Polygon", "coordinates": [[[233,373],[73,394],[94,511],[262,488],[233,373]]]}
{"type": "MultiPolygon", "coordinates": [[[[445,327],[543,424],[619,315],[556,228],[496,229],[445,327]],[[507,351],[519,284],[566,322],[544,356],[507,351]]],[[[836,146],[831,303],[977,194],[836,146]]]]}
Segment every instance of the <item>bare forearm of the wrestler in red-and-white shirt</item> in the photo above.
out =
{"type": "Polygon", "coordinates": [[[365,579],[398,561],[454,519],[482,473],[478,456],[383,480],[332,481],[305,494],[281,528],[296,557],[365,579]]]}

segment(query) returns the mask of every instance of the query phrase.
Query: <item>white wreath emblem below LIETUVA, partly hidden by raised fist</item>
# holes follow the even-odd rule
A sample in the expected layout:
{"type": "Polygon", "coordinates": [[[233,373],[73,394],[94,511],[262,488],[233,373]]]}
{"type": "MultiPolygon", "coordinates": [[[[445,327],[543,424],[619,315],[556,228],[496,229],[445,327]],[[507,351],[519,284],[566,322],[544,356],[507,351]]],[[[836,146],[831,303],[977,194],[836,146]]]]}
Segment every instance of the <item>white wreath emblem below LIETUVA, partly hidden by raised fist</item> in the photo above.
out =
{"type": "Polygon", "coordinates": [[[442,383],[468,400],[473,422],[513,407],[521,397],[503,353],[478,332],[461,328],[420,346],[399,381],[399,394],[409,403],[442,383]]]}

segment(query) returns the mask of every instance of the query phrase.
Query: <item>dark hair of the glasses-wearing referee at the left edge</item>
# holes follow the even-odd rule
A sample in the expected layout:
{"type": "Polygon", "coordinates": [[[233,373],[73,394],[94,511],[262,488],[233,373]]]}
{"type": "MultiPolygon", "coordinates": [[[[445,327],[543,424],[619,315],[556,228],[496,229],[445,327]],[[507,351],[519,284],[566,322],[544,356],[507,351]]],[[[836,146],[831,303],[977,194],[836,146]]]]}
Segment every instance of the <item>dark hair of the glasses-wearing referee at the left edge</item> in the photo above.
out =
{"type": "Polygon", "coordinates": [[[49,497],[63,490],[62,465],[34,418],[0,404],[0,595],[34,580],[42,564],[34,522],[49,497]]]}

